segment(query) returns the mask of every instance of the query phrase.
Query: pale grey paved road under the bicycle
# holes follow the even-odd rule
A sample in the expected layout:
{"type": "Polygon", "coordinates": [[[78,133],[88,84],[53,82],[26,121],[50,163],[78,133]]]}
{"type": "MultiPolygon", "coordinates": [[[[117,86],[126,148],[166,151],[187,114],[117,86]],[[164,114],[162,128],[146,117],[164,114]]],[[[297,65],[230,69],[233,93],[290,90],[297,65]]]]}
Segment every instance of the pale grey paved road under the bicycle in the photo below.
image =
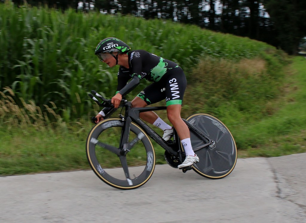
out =
{"type": "Polygon", "coordinates": [[[0,222],[306,222],[305,160],[238,159],[219,180],[157,165],[126,191],[91,170],[0,177],[0,222]]]}

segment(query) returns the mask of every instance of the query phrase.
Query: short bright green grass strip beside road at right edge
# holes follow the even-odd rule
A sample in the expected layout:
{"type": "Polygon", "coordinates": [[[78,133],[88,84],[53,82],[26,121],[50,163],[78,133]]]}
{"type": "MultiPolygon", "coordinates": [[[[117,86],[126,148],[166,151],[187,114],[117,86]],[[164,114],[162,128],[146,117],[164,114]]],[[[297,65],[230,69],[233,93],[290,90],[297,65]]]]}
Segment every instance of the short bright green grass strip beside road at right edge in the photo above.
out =
{"type": "Polygon", "coordinates": [[[248,125],[237,126],[239,146],[248,156],[281,156],[306,151],[306,61],[295,57],[286,68],[283,94],[268,105],[273,110],[248,125]]]}

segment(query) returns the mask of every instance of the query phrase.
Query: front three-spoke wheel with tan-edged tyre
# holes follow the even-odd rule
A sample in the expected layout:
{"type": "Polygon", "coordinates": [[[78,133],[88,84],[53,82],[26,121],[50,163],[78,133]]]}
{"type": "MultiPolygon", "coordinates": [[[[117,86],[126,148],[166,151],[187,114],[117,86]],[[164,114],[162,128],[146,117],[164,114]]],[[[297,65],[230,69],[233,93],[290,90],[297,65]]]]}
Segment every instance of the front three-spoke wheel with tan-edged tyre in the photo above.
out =
{"type": "Polygon", "coordinates": [[[147,134],[132,122],[129,143],[138,141],[125,156],[129,178],[122,171],[123,168],[121,171],[120,168],[111,169],[122,167],[120,158],[98,142],[118,148],[123,126],[124,122],[119,118],[105,119],[96,124],[88,134],[86,154],[91,169],[103,182],[114,188],[129,190],[144,185],[150,179],[155,169],[155,151],[147,134]],[[135,164],[139,166],[133,167],[135,164]]]}

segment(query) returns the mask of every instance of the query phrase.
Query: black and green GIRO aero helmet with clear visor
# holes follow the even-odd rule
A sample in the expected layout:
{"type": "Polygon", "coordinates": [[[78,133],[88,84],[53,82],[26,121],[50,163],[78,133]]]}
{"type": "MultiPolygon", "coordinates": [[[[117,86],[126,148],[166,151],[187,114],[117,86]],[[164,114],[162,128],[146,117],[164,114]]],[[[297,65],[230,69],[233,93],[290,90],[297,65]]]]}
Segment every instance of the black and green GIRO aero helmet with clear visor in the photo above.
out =
{"type": "Polygon", "coordinates": [[[108,37],[103,39],[98,44],[95,49],[95,55],[97,55],[98,58],[103,61],[107,58],[107,55],[109,55],[106,53],[110,53],[116,59],[116,64],[118,64],[118,55],[115,56],[113,52],[126,53],[130,50],[131,47],[129,47],[126,43],[122,42],[120,39],[108,37]]]}

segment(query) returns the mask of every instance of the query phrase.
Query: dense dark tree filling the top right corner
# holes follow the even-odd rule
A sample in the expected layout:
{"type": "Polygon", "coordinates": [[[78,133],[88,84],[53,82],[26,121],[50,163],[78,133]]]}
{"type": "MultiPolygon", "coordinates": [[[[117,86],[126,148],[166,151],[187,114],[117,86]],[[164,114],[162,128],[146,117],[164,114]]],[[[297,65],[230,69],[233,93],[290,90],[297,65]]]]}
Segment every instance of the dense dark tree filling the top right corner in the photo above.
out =
{"type": "Polygon", "coordinates": [[[278,35],[280,47],[289,54],[297,54],[300,40],[306,36],[306,1],[264,0],[278,35]]]}

